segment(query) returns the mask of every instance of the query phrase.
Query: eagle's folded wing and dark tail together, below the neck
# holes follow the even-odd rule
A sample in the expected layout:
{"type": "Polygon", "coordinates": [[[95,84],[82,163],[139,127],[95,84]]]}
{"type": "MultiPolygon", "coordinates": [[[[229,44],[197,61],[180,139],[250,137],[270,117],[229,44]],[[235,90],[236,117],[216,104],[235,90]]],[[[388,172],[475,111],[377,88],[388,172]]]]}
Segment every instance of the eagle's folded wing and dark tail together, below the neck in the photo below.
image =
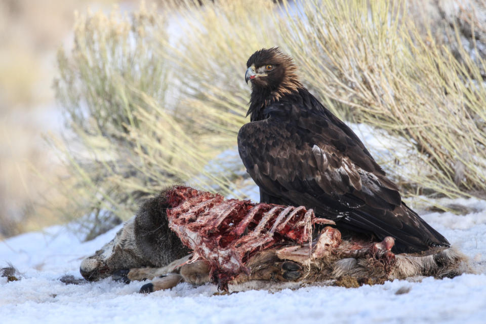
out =
{"type": "Polygon", "coordinates": [[[350,229],[391,235],[396,252],[448,246],[402,203],[396,185],[330,112],[248,123],[238,133],[238,151],[262,202],[306,206],[350,229]]]}

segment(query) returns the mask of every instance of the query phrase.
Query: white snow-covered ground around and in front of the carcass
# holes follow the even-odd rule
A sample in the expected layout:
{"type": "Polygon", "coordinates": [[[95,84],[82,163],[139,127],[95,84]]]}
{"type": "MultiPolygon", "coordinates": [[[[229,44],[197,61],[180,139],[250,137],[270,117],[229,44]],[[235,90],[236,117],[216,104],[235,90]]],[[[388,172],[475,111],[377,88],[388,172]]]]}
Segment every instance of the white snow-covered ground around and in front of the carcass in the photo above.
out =
{"type": "MultiPolygon", "coordinates": [[[[447,202],[446,202],[447,203],[447,202]]],[[[0,262],[11,262],[20,280],[0,278],[2,323],[333,323],[464,322],[486,320],[486,201],[456,199],[466,215],[429,213],[423,218],[467,254],[477,274],[453,279],[395,280],[357,289],[304,287],[278,292],[246,291],[214,295],[212,285],[179,284],[170,291],[139,294],[107,278],[66,285],[63,275],[79,277],[79,264],[111,240],[120,226],[80,242],[63,226],[0,242],[0,262]],[[403,289],[402,289],[403,288],[403,289]],[[398,290],[410,291],[397,294],[398,290]]]]}

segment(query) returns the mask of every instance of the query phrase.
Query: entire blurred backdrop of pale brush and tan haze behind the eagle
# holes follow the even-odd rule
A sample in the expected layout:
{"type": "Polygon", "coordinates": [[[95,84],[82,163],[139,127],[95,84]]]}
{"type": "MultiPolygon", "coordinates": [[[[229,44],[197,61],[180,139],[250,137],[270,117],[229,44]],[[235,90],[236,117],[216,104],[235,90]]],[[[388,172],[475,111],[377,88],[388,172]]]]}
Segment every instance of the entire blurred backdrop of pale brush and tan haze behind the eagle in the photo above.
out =
{"type": "MultiPolygon", "coordinates": [[[[17,10],[12,3],[0,10],[5,17],[17,10]]],[[[243,74],[255,50],[273,46],[294,57],[304,84],[334,113],[380,135],[382,149],[370,150],[406,196],[428,204],[484,197],[484,1],[166,0],[111,11],[71,2],[66,10],[82,14],[59,18],[57,28],[28,4],[19,28],[46,22],[65,32],[52,41],[64,46],[56,69],[39,63],[34,39],[15,52],[27,32],[3,36],[12,45],[0,62],[0,82],[11,87],[0,97],[8,116],[0,145],[10,150],[0,164],[0,226],[16,226],[3,235],[81,217],[90,238],[96,224],[129,218],[174,183],[248,197],[255,188],[236,150],[250,94],[243,74]],[[61,27],[71,17],[74,28],[61,27]],[[45,147],[37,139],[56,127],[51,117],[35,127],[19,120],[52,93],[52,118],[62,115],[63,127],[45,147]]],[[[55,46],[37,42],[49,57],[55,46]]]]}

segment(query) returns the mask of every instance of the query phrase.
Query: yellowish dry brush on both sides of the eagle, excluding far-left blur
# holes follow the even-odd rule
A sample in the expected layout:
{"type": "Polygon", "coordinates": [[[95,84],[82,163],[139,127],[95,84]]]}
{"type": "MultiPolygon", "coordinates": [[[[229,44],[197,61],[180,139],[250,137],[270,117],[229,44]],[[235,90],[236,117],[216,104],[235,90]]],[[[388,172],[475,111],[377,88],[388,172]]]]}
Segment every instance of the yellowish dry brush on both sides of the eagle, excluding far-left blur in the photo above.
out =
{"type": "Polygon", "coordinates": [[[336,114],[408,144],[399,169],[393,152],[382,160],[407,194],[482,195],[484,61],[457,46],[459,31],[452,53],[436,41],[438,27],[433,35],[413,14],[399,1],[322,0],[178,2],[78,17],[56,83],[73,131],[62,151],[75,209],[126,218],[174,182],[238,194],[242,165],[224,152],[246,122],[246,60],[271,46],[295,58],[336,114]],[[167,34],[169,23],[179,36],[167,34]]]}

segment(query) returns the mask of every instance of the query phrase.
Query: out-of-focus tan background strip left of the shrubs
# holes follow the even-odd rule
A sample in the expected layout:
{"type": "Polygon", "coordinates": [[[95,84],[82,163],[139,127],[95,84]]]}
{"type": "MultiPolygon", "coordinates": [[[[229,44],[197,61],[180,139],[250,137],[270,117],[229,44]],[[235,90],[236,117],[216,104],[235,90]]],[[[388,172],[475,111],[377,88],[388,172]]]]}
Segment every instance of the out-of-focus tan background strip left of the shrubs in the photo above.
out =
{"type": "Polygon", "coordinates": [[[56,50],[70,43],[75,8],[110,2],[0,2],[0,239],[63,221],[53,205],[65,197],[42,180],[63,172],[43,139],[60,128],[52,89],[56,50]]]}

